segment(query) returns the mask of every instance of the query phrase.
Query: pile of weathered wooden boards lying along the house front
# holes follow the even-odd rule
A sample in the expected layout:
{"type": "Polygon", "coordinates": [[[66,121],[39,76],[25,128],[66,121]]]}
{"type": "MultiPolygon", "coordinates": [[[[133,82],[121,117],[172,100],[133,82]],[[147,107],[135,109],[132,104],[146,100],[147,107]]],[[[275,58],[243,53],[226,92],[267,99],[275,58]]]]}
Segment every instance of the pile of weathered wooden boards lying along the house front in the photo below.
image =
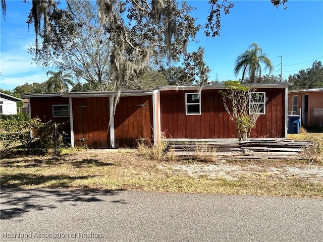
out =
{"type": "Polygon", "coordinates": [[[302,159],[301,151],[313,145],[310,141],[289,139],[216,142],[170,142],[169,152],[178,159],[213,156],[218,159],[302,159]]]}

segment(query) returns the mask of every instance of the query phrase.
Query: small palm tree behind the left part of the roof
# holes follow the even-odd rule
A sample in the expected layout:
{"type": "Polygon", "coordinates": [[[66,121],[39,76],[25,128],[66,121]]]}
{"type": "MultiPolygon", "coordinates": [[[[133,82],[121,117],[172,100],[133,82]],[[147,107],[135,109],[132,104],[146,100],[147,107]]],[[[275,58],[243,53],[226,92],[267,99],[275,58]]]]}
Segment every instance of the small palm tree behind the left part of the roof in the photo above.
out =
{"type": "Polygon", "coordinates": [[[62,71],[53,72],[48,71],[46,75],[51,75],[51,77],[46,81],[47,92],[68,92],[69,85],[74,84],[74,82],[69,79],[72,78],[71,75],[63,75],[62,71]]]}

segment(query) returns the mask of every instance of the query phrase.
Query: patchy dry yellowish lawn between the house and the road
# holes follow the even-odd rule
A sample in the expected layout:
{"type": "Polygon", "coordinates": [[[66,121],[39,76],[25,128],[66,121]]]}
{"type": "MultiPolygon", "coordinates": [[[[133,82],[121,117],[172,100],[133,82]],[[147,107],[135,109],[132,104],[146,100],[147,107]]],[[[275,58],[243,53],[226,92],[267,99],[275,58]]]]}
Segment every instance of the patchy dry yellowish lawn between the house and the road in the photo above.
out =
{"type": "Polygon", "coordinates": [[[323,164],[157,161],[138,150],[73,150],[0,161],[1,187],[125,189],[323,198],[323,164]]]}

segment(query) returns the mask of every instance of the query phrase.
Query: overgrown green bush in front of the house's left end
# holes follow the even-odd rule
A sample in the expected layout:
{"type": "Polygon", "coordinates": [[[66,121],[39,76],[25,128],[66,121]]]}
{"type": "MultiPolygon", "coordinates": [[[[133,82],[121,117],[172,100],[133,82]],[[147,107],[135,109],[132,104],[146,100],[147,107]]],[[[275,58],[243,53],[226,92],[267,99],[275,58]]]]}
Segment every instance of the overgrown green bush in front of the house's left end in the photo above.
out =
{"type": "Polygon", "coordinates": [[[0,148],[2,154],[21,148],[32,154],[45,154],[50,149],[64,146],[62,125],[50,120],[42,123],[39,118],[26,119],[23,115],[0,120],[0,148]]]}

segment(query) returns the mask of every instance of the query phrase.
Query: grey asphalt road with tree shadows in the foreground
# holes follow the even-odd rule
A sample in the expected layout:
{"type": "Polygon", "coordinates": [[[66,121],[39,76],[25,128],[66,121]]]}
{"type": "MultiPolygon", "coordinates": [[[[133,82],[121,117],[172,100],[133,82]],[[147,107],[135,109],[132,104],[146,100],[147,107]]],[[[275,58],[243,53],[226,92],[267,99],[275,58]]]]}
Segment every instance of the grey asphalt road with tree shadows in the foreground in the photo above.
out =
{"type": "Polygon", "coordinates": [[[323,241],[323,200],[2,189],[0,241],[323,241]]]}

